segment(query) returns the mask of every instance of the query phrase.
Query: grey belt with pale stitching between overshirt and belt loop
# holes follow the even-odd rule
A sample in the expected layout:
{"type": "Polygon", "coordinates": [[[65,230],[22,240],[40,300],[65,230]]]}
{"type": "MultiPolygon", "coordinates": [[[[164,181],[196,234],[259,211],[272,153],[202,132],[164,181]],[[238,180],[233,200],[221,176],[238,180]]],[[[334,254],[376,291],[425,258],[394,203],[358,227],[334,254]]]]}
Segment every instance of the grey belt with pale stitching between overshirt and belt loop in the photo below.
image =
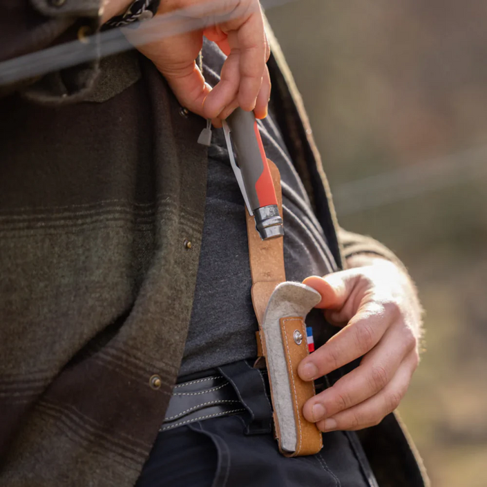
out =
{"type": "Polygon", "coordinates": [[[160,431],[244,411],[231,383],[214,374],[175,385],[160,431]]]}

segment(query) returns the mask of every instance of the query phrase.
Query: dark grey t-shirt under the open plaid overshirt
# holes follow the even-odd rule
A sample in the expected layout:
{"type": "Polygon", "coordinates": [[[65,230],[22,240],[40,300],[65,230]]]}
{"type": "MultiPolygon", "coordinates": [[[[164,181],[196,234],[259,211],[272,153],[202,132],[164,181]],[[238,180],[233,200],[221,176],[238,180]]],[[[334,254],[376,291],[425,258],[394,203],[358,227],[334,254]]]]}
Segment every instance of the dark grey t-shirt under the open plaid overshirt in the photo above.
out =
{"type": "MultiPolygon", "coordinates": [[[[204,77],[212,86],[219,80],[224,59],[214,44],[205,41],[204,77]]],[[[323,229],[271,114],[259,122],[259,128],[267,157],[278,166],[283,186],[287,280],[335,271],[323,229]]],[[[223,132],[213,129],[200,266],[180,375],[256,356],[258,325],[251,284],[244,201],[223,132]]],[[[324,326],[321,312],[310,313],[307,324],[324,326]]]]}

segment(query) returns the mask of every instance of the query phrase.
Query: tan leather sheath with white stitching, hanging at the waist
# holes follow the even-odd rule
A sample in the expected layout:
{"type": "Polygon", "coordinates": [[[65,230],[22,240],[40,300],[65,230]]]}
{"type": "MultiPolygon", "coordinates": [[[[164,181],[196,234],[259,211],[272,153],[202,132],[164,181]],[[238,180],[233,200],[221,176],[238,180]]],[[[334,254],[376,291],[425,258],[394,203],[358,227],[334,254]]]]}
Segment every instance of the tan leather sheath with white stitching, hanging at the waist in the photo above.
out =
{"type": "MultiPolygon", "coordinates": [[[[274,181],[274,189],[276,189],[279,213],[282,218],[283,197],[280,187],[280,174],[276,164],[270,160],[269,168],[274,181]]],[[[260,330],[256,334],[258,355],[259,357],[265,357],[267,351],[264,334],[262,333],[261,328],[262,321],[271,294],[274,292],[274,289],[278,284],[283,283],[286,280],[283,237],[262,240],[256,230],[254,217],[250,216],[247,210],[245,213],[247,216],[249,261],[252,276],[251,297],[260,330]]],[[[316,428],[314,423],[309,423],[303,417],[303,405],[308,399],[313,397],[314,383],[302,381],[297,374],[298,364],[309,352],[307,346],[296,346],[292,334],[294,334],[294,331],[297,328],[302,330],[304,337],[306,336],[304,319],[305,316],[283,317],[280,319],[281,333],[283,336],[283,343],[285,344],[284,351],[287,363],[287,373],[289,376],[289,387],[292,393],[294,419],[296,421],[296,435],[298,438],[296,450],[294,452],[284,451],[281,448],[277,416],[274,414],[274,432],[279,443],[279,450],[287,457],[314,455],[323,447],[321,432],[316,428]]],[[[256,362],[256,367],[260,366],[262,366],[261,359],[256,362]]],[[[276,394],[276,391],[274,391],[272,387],[270,374],[269,383],[271,386],[271,399],[274,404],[274,394],[276,394]]]]}

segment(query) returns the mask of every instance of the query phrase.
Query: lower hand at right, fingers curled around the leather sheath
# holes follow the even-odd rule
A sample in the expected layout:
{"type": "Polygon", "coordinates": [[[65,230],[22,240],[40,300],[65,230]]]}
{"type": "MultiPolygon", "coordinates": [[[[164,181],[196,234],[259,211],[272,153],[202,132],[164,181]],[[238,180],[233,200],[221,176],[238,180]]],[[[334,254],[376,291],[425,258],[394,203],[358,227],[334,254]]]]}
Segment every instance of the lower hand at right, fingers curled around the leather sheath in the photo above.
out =
{"type": "Polygon", "coordinates": [[[409,277],[392,262],[303,281],[318,291],[327,321],[343,325],[298,367],[311,381],[363,356],[359,367],[303,408],[322,431],[375,426],[403,398],[419,363],[421,307],[409,277]]]}

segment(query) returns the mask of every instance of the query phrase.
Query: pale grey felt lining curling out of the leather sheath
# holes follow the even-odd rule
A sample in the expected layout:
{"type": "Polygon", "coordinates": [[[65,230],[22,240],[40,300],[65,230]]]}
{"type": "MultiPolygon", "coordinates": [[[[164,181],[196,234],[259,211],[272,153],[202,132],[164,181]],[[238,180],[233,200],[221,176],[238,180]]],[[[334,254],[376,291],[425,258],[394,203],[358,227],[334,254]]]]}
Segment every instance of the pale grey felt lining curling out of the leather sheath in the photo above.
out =
{"type": "MultiPolygon", "coordinates": [[[[267,370],[271,378],[274,410],[279,423],[280,444],[287,452],[296,451],[297,434],[279,320],[289,316],[305,318],[320,301],[321,295],[311,287],[301,283],[281,283],[269,299],[262,323],[267,348],[267,370]]],[[[306,336],[303,336],[303,343],[306,346],[306,336]]]]}

